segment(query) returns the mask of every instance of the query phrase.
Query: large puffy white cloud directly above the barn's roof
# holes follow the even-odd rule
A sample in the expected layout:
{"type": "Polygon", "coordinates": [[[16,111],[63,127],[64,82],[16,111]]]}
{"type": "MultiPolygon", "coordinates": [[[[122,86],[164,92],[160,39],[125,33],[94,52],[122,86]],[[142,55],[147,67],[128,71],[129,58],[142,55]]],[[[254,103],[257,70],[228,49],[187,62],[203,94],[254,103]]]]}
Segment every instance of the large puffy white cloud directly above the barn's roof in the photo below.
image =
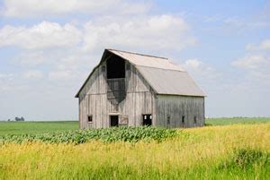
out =
{"type": "Polygon", "coordinates": [[[84,49],[90,51],[97,47],[175,51],[194,44],[184,19],[168,14],[103,18],[85,24],[84,49]]]}

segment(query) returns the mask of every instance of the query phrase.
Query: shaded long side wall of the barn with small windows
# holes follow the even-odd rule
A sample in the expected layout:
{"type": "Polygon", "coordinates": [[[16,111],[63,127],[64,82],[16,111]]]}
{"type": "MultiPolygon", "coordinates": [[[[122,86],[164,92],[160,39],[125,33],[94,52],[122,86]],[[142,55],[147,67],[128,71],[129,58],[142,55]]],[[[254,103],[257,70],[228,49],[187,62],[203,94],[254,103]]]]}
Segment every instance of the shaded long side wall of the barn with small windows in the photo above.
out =
{"type": "Polygon", "coordinates": [[[194,127],[202,126],[205,122],[203,97],[157,95],[156,108],[157,126],[194,127]],[[197,118],[196,124],[194,116],[197,118]]]}

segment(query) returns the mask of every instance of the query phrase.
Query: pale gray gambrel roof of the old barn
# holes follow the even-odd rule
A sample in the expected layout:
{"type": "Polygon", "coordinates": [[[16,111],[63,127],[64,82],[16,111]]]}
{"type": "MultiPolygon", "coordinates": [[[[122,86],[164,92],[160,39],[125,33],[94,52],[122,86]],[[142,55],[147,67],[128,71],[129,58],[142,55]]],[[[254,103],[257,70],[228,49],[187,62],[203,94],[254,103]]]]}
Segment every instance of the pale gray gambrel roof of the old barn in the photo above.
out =
{"type": "MultiPolygon", "coordinates": [[[[205,93],[182,67],[173,64],[165,57],[141,55],[115,49],[105,49],[103,55],[107,52],[120,56],[133,64],[157,94],[205,96],[205,93]]],[[[80,90],[84,88],[85,83],[80,90]]],[[[76,98],[80,90],[77,92],[76,98]]]]}

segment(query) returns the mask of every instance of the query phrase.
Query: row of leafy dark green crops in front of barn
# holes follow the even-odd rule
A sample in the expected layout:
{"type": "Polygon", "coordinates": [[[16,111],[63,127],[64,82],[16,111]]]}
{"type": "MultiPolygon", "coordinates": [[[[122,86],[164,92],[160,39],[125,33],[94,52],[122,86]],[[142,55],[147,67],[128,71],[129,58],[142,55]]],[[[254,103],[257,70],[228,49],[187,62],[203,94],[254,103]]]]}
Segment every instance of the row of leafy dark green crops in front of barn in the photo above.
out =
{"type": "Polygon", "coordinates": [[[106,129],[76,130],[56,133],[20,134],[0,136],[0,142],[22,143],[43,141],[49,143],[85,143],[91,140],[112,141],[164,141],[176,135],[175,129],[142,127],[114,127],[106,129]]]}

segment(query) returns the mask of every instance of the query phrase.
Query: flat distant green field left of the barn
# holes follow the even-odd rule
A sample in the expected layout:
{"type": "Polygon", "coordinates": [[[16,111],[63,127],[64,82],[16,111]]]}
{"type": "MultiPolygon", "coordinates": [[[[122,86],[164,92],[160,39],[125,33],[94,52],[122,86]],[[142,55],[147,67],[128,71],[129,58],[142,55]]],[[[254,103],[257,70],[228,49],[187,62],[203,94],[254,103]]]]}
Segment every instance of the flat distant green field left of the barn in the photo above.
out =
{"type": "Polygon", "coordinates": [[[0,122],[0,135],[51,133],[78,129],[77,121],[63,122],[0,122]]]}

